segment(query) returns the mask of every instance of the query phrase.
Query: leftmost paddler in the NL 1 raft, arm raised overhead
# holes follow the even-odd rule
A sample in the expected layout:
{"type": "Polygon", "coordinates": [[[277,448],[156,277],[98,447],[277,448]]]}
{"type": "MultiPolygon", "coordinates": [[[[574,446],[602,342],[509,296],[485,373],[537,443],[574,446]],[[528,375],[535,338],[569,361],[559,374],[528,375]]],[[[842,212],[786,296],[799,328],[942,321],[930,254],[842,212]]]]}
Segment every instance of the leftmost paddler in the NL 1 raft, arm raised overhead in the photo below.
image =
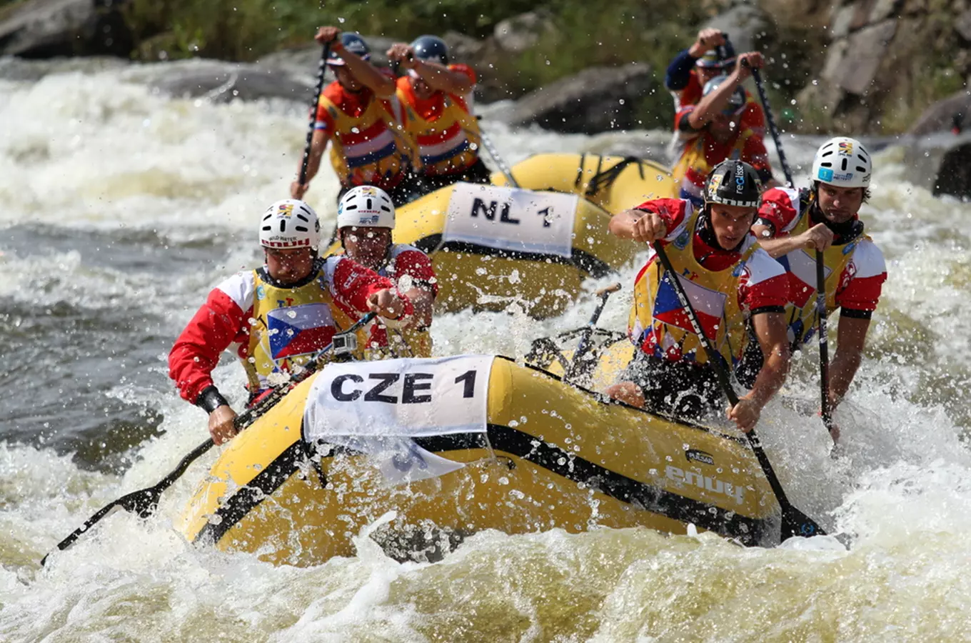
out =
{"type": "Polygon", "coordinates": [[[407,203],[418,194],[412,171],[416,158],[404,131],[405,116],[394,95],[394,79],[368,62],[371,50],[359,35],[320,27],[316,38],[321,44],[330,43],[327,64],[337,81],[320,92],[307,181],[302,185],[294,181],[290,196],[303,198],[329,143],[341,194],[354,186],[379,186],[396,205],[407,203]]]}

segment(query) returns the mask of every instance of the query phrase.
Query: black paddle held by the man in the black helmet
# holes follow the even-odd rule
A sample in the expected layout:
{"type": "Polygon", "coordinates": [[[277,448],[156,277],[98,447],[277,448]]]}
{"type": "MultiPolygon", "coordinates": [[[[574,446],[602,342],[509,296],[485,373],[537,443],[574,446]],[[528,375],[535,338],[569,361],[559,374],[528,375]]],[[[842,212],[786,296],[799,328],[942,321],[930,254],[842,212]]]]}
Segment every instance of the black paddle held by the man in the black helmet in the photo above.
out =
{"type": "MultiPolygon", "coordinates": [[[[715,375],[719,380],[722,392],[724,392],[725,397],[728,398],[728,402],[735,406],[738,404],[738,395],[735,394],[735,389],[732,389],[731,383],[728,381],[728,371],[724,364],[721,363],[721,355],[715,351],[715,347],[712,346],[711,340],[705,335],[704,329],[701,327],[701,322],[698,321],[698,316],[694,312],[694,308],[691,307],[691,302],[687,299],[687,294],[685,293],[685,287],[682,286],[681,281],[678,279],[678,273],[671,266],[671,260],[668,259],[667,254],[664,252],[664,248],[661,246],[660,242],[655,241],[653,244],[654,252],[657,253],[657,257],[661,261],[661,265],[664,266],[664,270],[667,272],[668,281],[674,288],[675,293],[678,295],[678,300],[681,302],[682,307],[687,312],[687,318],[691,321],[691,327],[694,329],[694,333],[701,340],[701,346],[705,351],[705,355],[708,356],[708,363],[712,365],[715,369],[715,375]]],[[[758,436],[755,435],[755,429],[752,429],[746,433],[746,437],[749,438],[749,444],[752,446],[752,451],[755,457],[758,459],[758,464],[762,467],[762,473],[765,474],[765,479],[769,481],[769,487],[776,494],[776,499],[779,501],[779,507],[783,512],[783,525],[781,540],[786,540],[791,536],[817,536],[825,535],[825,531],[822,530],[820,525],[817,525],[813,519],[806,516],[804,513],[793,507],[786,497],[786,491],[783,490],[782,484],[779,482],[779,478],[776,477],[776,472],[772,469],[772,464],[769,462],[769,458],[762,451],[762,445],[758,441],[758,436]]]]}

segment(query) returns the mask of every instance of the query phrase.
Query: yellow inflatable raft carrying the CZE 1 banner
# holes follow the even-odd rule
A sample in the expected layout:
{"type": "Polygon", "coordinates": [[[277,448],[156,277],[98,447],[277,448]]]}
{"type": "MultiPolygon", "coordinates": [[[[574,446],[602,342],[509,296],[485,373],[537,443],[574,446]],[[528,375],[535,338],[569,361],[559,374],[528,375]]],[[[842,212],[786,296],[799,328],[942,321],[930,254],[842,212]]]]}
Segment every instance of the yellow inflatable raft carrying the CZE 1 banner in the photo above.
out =
{"type": "Polygon", "coordinates": [[[777,513],[737,436],[463,355],[328,365],[233,439],[178,525],[194,543],[311,565],[351,556],[376,521],[389,553],[420,558],[488,528],[693,524],[771,544],[777,513]]]}

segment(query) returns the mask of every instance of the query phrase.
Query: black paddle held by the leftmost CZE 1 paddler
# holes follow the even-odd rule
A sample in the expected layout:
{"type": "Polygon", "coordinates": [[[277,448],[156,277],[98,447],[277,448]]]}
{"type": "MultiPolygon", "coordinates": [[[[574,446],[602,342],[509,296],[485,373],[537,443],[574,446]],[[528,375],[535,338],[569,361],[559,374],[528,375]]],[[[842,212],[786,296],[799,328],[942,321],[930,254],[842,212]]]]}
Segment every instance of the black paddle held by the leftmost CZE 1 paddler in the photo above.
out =
{"type": "MultiPolygon", "coordinates": [[[[236,416],[236,418],[233,419],[233,427],[236,429],[236,431],[240,432],[250,426],[252,423],[256,422],[258,418],[275,406],[277,402],[282,400],[286,393],[293,389],[293,387],[316,373],[328,361],[324,359],[324,357],[330,353],[335,344],[340,344],[341,339],[345,339],[355,330],[373,320],[375,315],[375,313],[368,313],[346,331],[334,335],[334,339],[330,342],[330,344],[320,349],[302,371],[296,375],[291,375],[290,379],[285,383],[272,389],[272,392],[261,398],[256,404],[251,406],[251,408],[236,416]]],[[[68,547],[73,545],[75,541],[78,540],[82,534],[84,534],[85,531],[97,524],[99,521],[101,521],[101,519],[112,513],[115,509],[124,509],[127,512],[138,514],[141,518],[149,518],[155,513],[155,509],[158,508],[158,501],[161,498],[162,491],[165,491],[171,487],[177,480],[179,480],[179,478],[182,477],[185,469],[187,469],[192,462],[205,455],[214,446],[216,446],[216,443],[214,443],[212,439],[206,440],[189,452],[185,457],[183,457],[179,462],[179,465],[176,466],[176,468],[173,469],[167,476],[162,478],[158,484],[154,485],[153,487],[149,487],[148,489],[126,493],[117,500],[108,503],[99,509],[97,513],[84,521],[84,525],[81,525],[68,534],[64,540],[57,543],[57,549],[60,551],[66,550],[68,547]]],[[[48,557],[50,557],[50,553],[44,558],[41,558],[42,566],[47,562],[48,557]]]]}

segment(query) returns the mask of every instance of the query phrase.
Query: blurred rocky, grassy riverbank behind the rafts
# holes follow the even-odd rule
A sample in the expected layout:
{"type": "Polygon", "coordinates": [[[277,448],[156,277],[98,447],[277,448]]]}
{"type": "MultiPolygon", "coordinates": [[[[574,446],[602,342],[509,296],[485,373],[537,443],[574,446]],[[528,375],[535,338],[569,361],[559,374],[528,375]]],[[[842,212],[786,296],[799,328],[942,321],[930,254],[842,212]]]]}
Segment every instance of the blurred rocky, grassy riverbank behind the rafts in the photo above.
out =
{"type": "MultiPolygon", "coordinates": [[[[303,101],[321,24],[365,35],[379,63],[395,40],[442,35],[479,73],[481,103],[515,101],[497,117],[583,133],[669,128],[664,70],[718,26],[737,51],[767,54],[784,131],[904,141],[935,176],[971,159],[971,0],[0,0],[0,79],[100,56],[142,63],[173,94],[303,101]]],[[[934,188],[966,195],[969,181],[934,188]]]]}

